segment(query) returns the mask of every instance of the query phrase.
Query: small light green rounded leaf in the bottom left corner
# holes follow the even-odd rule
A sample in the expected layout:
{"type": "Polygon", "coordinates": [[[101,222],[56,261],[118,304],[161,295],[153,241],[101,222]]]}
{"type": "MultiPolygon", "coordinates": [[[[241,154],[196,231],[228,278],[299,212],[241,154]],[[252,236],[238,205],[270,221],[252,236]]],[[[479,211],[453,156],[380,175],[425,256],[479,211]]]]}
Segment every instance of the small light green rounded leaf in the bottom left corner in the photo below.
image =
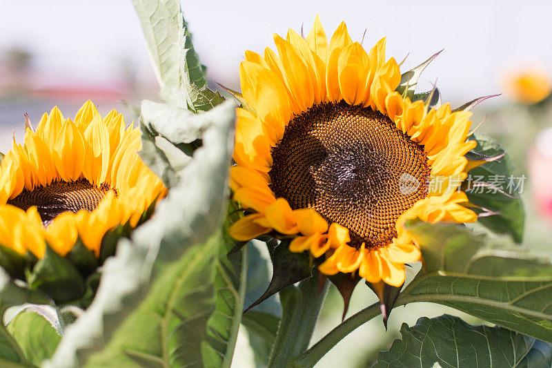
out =
{"type": "Polygon", "coordinates": [[[50,322],[35,311],[22,311],[8,323],[8,331],[35,365],[48,359],[61,340],[50,322]]]}

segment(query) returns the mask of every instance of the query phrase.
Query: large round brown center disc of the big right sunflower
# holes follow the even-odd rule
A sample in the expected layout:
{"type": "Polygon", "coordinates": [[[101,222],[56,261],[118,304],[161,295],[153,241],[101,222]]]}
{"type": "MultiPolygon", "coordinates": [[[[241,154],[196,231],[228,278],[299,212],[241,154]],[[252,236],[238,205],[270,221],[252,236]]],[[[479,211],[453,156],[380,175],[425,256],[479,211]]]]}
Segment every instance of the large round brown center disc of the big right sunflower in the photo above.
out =
{"type": "Polygon", "coordinates": [[[381,113],[344,101],[296,116],[272,157],[276,197],[345,226],[351,246],[391,244],[399,216],[428,191],[423,146],[381,113]]]}

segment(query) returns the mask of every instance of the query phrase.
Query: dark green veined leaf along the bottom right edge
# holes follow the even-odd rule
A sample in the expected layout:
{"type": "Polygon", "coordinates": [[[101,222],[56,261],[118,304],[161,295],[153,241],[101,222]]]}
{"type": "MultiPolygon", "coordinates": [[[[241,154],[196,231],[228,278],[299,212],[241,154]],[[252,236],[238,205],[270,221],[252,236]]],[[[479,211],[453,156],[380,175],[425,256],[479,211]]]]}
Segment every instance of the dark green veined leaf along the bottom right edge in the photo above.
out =
{"type": "Polygon", "coordinates": [[[380,351],[373,367],[550,367],[552,359],[533,359],[534,338],[501,327],[471,326],[454,316],[420,318],[401,327],[402,340],[380,351]],[[529,361],[528,361],[529,360],[529,361]],[[538,364],[541,363],[541,364],[538,364]]]}

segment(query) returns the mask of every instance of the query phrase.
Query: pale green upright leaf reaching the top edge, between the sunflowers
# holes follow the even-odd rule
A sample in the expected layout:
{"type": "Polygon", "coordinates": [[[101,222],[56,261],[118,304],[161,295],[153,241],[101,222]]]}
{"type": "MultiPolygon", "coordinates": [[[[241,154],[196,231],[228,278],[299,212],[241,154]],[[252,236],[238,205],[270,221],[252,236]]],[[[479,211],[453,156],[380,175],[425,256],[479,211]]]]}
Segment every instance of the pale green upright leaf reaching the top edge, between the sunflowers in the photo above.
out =
{"type": "Polygon", "coordinates": [[[193,48],[178,0],[132,0],[150,58],[168,104],[206,111],[224,101],[207,88],[204,68],[193,48]]]}

